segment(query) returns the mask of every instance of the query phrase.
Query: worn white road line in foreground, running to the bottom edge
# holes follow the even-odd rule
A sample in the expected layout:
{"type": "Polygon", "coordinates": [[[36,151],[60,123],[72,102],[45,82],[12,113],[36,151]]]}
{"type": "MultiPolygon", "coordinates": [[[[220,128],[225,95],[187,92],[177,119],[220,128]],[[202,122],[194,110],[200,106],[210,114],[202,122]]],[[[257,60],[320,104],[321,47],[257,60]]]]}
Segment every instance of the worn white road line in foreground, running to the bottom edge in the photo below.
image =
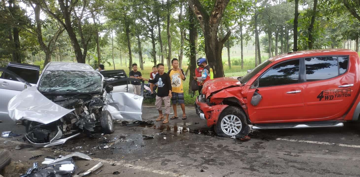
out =
{"type": "Polygon", "coordinates": [[[127,163],[123,163],[123,161],[121,162],[116,162],[116,161],[108,161],[108,160],[104,160],[104,159],[99,159],[99,158],[93,158],[93,160],[99,161],[99,162],[103,162],[103,163],[109,163],[109,164],[117,164],[117,165],[122,165],[124,167],[130,167],[130,168],[134,168],[134,169],[138,169],[141,171],[147,171],[147,172],[152,172],[152,173],[158,173],[158,174],[162,174],[162,175],[169,175],[169,176],[174,176],[174,177],[190,177],[190,176],[186,176],[186,175],[181,175],[181,174],[177,174],[177,173],[173,173],[173,172],[168,172],[168,171],[162,171],[162,170],[157,170],[157,169],[152,169],[152,168],[147,168],[147,167],[141,167],[141,166],[134,166],[133,164],[127,164],[127,163]]]}

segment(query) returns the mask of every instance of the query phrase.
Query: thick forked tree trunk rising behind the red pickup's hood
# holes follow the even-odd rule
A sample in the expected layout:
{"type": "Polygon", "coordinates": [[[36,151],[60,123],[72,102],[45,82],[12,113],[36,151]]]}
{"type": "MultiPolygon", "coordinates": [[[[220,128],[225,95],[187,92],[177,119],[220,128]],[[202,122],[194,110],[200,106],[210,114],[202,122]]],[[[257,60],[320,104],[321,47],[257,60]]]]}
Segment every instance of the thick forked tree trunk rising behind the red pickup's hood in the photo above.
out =
{"type": "Polygon", "coordinates": [[[199,0],[189,0],[189,5],[200,23],[205,39],[205,53],[208,64],[213,68],[214,78],[224,76],[224,67],[222,66],[222,48],[228,40],[231,31],[228,31],[224,38],[218,38],[219,24],[224,14],[224,10],[229,0],[216,0],[213,4],[213,10],[209,13],[203,8],[199,0]]]}

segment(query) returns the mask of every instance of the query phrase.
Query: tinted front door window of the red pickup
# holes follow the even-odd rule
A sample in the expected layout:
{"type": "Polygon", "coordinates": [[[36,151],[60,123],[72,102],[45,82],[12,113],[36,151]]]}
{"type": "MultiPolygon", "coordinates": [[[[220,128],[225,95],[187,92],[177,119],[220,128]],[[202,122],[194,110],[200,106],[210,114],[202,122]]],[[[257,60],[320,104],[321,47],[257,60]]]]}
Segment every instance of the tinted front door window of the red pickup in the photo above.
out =
{"type": "Polygon", "coordinates": [[[259,79],[259,87],[298,83],[299,60],[280,63],[266,71],[259,79]]]}

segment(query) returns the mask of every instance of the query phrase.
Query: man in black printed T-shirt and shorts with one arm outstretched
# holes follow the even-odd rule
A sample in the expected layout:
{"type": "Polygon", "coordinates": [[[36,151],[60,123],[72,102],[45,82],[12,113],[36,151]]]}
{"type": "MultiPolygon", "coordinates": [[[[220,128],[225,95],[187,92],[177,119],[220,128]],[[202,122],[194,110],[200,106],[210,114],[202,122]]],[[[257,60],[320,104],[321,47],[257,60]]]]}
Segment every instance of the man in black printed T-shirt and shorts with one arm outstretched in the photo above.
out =
{"type": "Polygon", "coordinates": [[[155,106],[156,106],[157,110],[159,111],[159,117],[156,119],[156,121],[161,121],[164,118],[164,116],[162,114],[162,108],[161,108],[162,101],[163,101],[165,104],[166,118],[162,123],[166,124],[169,122],[170,99],[172,97],[171,81],[170,81],[170,76],[168,74],[164,73],[164,70],[165,70],[164,64],[162,64],[162,63],[157,64],[157,69],[158,69],[159,73],[155,75],[154,79],[149,80],[149,79],[143,78],[143,80],[147,80],[147,81],[149,81],[149,83],[152,83],[152,84],[157,83],[158,92],[156,95],[155,106]]]}

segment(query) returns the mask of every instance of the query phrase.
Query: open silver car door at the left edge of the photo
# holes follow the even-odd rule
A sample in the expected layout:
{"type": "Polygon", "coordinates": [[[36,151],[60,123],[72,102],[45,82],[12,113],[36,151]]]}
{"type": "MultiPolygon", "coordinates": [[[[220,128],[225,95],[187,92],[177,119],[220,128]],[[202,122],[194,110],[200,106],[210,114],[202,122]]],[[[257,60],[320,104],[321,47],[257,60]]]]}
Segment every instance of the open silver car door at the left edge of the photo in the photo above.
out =
{"type": "Polygon", "coordinates": [[[0,68],[0,73],[0,114],[7,115],[10,99],[31,85],[7,69],[0,68]]]}

